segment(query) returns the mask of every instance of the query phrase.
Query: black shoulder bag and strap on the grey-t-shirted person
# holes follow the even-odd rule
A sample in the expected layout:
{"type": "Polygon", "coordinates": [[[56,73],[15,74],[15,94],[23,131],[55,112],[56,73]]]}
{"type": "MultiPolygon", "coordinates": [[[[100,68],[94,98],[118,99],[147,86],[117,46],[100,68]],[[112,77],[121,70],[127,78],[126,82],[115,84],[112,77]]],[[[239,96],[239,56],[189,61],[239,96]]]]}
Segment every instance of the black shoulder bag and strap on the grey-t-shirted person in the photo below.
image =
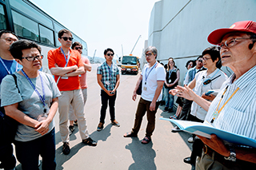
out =
{"type": "MultiPolygon", "coordinates": [[[[15,85],[17,86],[17,77],[15,74],[10,74],[14,77],[15,85]]],[[[19,90],[18,90],[18,93],[19,90]]],[[[1,102],[1,101],[0,101],[1,102]]],[[[18,128],[18,121],[15,121],[13,118],[6,116],[5,109],[0,107],[0,136],[1,136],[1,144],[12,143],[14,142],[14,137],[16,135],[18,128]]]]}

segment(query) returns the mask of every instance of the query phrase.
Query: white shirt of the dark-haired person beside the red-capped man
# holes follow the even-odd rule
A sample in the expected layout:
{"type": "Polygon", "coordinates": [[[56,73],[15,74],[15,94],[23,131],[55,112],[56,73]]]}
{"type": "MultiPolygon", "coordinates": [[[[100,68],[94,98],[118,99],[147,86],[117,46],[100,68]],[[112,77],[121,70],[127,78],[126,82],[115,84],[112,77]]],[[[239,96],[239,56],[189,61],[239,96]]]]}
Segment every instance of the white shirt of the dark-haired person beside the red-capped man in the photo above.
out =
{"type": "MultiPolygon", "coordinates": [[[[198,94],[198,96],[202,96],[202,93],[206,93],[208,89],[220,89],[224,81],[228,79],[225,73],[222,72],[220,69],[215,69],[213,73],[207,76],[207,70],[200,71],[195,74],[195,86],[194,86],[194,93],[198,94]],[[219,76],[220,75],[220,76],[219,76]],[[219,76],[219,77],[218,77],[219,76]],[[204,81],[207,79],[213,79],[208,85],[202,85],[204,81]]],[[[194,117],[198,117],[198,119],[204,121],[206,117],[206,110],[202,109],[201,106],[196,104],[194,101],[191,106],[191,115],[194,117]]]]}

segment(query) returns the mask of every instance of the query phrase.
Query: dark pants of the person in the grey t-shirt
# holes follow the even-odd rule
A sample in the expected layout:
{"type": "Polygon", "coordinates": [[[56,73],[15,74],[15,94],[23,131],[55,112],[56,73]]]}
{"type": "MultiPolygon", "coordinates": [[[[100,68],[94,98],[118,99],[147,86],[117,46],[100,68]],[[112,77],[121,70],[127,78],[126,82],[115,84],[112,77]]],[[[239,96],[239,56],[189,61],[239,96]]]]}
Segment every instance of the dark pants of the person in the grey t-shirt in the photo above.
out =
{"type": "Polygon", "coordinates": [[[55,169],[55,129],[35,140],[14,142],[16,156],[22,169],[38,169],[38,156],[42,156],[42,169],[55,169]]]}

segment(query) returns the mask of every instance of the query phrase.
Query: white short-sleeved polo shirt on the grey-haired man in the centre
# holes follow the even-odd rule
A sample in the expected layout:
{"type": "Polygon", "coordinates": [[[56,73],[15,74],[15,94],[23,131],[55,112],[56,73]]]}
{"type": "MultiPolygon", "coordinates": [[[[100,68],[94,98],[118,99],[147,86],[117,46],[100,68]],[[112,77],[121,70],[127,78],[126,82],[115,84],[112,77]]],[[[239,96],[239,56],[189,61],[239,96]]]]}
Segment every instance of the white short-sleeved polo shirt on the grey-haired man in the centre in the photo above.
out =
{"type": "MultiPolygon", "coordinates": [[[[155,90],[158,87],[158,81],[166,80],[166,71],[164,67],[156,62],[150,67],[145,65],[142,70],[142,99],[145,101],[153,101],[155,90]]],[[[157,101],[162,100],[162,90],[157,101]]]]}

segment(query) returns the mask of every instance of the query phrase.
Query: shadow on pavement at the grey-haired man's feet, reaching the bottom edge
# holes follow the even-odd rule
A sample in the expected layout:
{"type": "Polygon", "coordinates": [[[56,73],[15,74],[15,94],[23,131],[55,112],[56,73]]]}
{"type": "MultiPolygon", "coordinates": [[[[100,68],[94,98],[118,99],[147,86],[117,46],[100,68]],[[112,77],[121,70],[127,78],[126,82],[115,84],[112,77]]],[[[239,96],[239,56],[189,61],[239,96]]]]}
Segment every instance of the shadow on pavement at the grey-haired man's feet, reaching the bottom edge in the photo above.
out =
{"type": "Polygon", "coordinates": [[[130,150],[134,163],[130,164],[129,170],[137,169],[157,169],[154,164],[156,153],[152,148],[153,144],[142,144],[138,137],[132,137],[132,142],[126,145],[126,149],[130,150]]]}

